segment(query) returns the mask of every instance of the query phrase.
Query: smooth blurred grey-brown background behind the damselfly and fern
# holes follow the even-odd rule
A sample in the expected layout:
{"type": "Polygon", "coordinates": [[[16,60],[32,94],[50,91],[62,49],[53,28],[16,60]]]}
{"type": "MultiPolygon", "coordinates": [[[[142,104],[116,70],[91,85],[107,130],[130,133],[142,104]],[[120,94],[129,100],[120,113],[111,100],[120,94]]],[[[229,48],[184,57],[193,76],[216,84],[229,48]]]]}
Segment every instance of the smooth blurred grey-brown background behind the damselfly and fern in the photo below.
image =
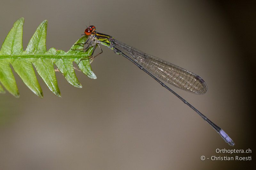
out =
{"type": "Polygon", "coordinates": [[[44,98],[15,73],[20,98],[0,95],[1,170],[252,169],[252,161],[200,160],[217,148],[252,149],[255,134],[255,3],[250,1],[4,1],[0,41],[25,18],[23,47],[48,19],[47,48],[67,51],[85,25],[199,74],[208,92],[175,87],[236,145],[124,57],[103,47],[82,89],[56,72],[62,97],[38,76],[44,98]]]}

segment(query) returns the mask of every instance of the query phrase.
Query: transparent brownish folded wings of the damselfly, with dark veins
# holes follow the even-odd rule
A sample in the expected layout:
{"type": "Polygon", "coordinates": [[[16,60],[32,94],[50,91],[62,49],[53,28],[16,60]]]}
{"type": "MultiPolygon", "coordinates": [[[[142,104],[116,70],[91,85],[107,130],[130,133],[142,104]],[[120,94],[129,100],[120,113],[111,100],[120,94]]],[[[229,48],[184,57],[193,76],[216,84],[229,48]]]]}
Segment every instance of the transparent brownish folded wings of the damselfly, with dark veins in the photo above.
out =
{"type": "Polygon", "coordinates": [[[204,94],[207,91],[205,81],[195,73],[155,56],[145,54],[123,42],[113,40],[112,43],[119,50],[131,55],[136,63],[165,82],[194,94],[204,94]]]}

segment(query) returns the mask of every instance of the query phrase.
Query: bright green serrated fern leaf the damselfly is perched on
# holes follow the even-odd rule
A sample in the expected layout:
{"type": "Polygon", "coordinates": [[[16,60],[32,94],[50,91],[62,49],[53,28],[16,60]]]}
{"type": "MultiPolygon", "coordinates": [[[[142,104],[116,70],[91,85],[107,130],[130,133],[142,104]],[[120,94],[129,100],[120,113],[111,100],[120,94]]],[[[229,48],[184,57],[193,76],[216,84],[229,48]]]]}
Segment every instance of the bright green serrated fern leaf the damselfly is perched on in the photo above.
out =
{"type": "MultiPolygon", "coordinates": [[[[90,59],[81,60],[90,56],[93,48],[90,47],[84,52],[82,50],[83,47],[76,45],[77,43],[84,43],[88,36],[81,37],[68,52],[56,50],[55,48],[50,48],[47,51],[47,20],[45,20],[37,27],[36,32],[28,42],[27,49],[23,51],[23,24],[24,18],[20,18],[14,23],[0,50],[0,82],[12,95],[19,97],[11,65],[28,88],[41,98],[43,97],[43,92],[37,81],[33,65],[45,84],[57,96],[60,96],[60,89],[55,76],[54,64],[68,82],[75,87],[82,88],[82,85],[76,77],[73,62],[76,62],[80,70],[89,78],[96,78],[92,72],[90,59]]],[[[0,93],[5,92],[2,85],[0,85],[0,93]]]]}

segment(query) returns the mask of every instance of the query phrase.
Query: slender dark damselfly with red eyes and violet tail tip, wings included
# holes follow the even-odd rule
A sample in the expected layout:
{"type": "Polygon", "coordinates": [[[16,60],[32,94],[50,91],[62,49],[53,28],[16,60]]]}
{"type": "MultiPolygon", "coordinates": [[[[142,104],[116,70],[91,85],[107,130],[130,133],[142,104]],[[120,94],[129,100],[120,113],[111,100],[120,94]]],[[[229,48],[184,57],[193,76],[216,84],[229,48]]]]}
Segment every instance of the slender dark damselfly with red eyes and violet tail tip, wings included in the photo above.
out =
{"type": "MultiPolygon", "coordinates": [[[[111,50],[113,50],[116,54],[122,55],[132,63],[137,65],[141,70],[145,71],[149,76],[154,78],[158,83],[164,86],[167,90],[172,92],[175,96],[177,96],[181,101],[183,101],[186,105],[191,107],[198,115],[200,115],[207,123],[209,123],[213,129],[215,129],[220,136],[231,146],[234,146],[235,143],[232,139],[216,124],[210,121],[205,115],[199,112],[195,107],[189,104],[185,99],[180,97],[176,92],[166,86],[162,81],[174,85],[182,90],[194,93],[194,94],[204,94],[207,91],[207,85],[205,81],[195,73],[192,73],[188,70],[185,70],[179,66],[176,66],[172,63],[164,61],[160,58],[157,58],[152,55],[148,55],[132,46],[129,46],[123,42],[115,40],[112,36],[107,34],[99,33],[95,31],[95,26],[89,26],[85,29],[85,35],[88,35],[89,38],[86,40],[83,45],[88,44],[86,48],[82,50],[86,50],[89,47],[93,46],[93,52],[98,44],[101,52],[102,49],[100,44],[107,46],[111,50]]],[[[99,54],[100,54],[99,53],[99,54]]],[[[99,55],[98,54],[98,55],[99,55]]],[[[93,59],[95,56],[90,56],[90,59],[93,59]]],[[[96,55],[97,56],[97,55],[96,55]]],[[[83,60],[83,59],[82,59],[83,60]]]]}

